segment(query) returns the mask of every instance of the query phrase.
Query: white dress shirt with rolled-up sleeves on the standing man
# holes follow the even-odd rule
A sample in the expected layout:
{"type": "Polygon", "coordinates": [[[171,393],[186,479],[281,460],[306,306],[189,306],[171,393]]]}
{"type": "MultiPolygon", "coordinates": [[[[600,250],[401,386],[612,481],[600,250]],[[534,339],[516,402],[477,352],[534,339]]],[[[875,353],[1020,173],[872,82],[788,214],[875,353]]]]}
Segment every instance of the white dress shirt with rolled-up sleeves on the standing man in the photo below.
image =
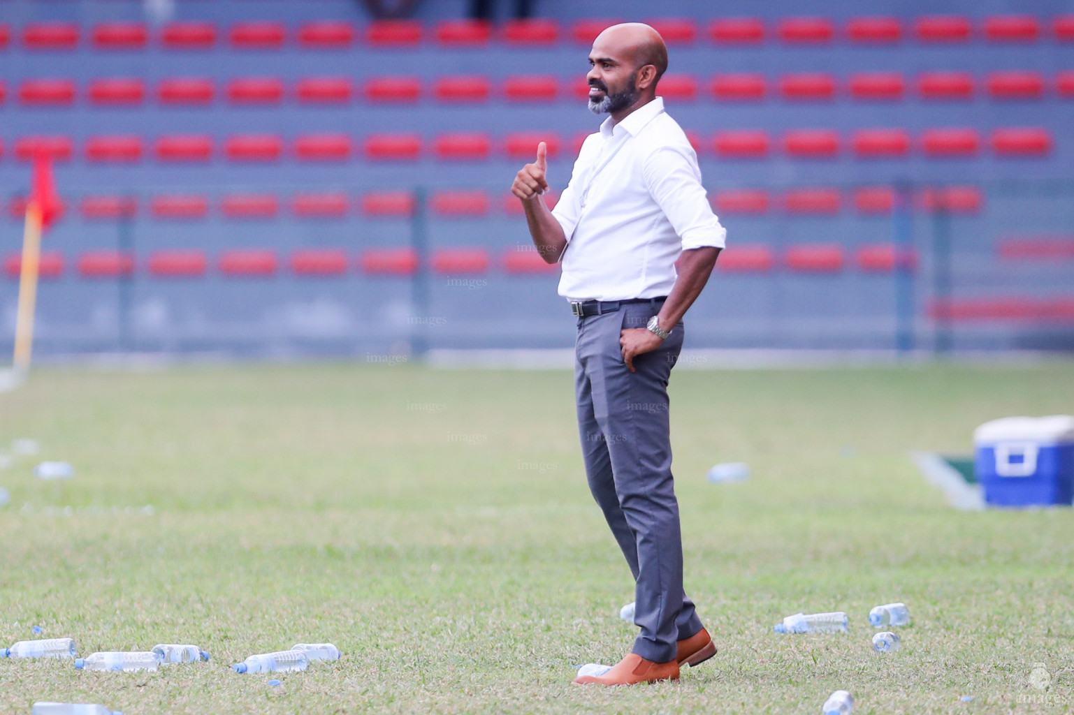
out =
{"type": "Polygon", "coordinates": [[[727,235],[697,155],[659,97],[585,137],[552,215],[567,236],[560,295],[570,301],[667,295],[679,254],[723,248],[727,235]]]}

